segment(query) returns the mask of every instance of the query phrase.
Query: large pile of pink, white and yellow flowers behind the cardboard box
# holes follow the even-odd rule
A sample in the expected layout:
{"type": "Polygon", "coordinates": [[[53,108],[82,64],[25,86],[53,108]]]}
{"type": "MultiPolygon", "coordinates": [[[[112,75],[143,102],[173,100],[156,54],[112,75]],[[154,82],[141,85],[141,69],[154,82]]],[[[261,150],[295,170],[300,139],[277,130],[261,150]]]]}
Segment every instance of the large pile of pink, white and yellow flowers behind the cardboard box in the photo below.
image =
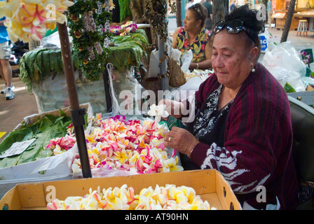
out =
{"type": "MultiPolygon", "coordinates": [[[[86,134],[86,146],[90,168],[118,169],[130,174],[182,171],[174,150],[168,155],[163,145],[168,128],[154,120],[125,120],[115,116],[102,120],[97,114],[90,134],[86,134]]],[[[81,170],[79,155],[72,164],[74,174],[81,170]]]]}

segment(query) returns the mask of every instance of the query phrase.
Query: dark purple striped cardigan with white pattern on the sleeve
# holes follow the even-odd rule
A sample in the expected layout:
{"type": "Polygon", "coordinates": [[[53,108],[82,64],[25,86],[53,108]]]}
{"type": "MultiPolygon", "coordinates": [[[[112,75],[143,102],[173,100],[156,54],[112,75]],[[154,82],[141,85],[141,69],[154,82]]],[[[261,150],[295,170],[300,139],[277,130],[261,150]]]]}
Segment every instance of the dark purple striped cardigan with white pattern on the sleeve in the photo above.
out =
{"type": "MultiPolygon", "coordinates": [[[[297,178],[292,159],[292,124],[287,94],[261,64],[255,66],[236,95],[226,118],[224,144],[199,143],[191,161],[201,169],[217,169],[231,185],[242,204],[264,208],[276,204],[295,209],[297,178]],[[261,188],[266,203],[257,202],[261,188]]],[[[196,92],[196,107],[206,104],[219,87],[217,76],[207,78],[196,92]]]]}

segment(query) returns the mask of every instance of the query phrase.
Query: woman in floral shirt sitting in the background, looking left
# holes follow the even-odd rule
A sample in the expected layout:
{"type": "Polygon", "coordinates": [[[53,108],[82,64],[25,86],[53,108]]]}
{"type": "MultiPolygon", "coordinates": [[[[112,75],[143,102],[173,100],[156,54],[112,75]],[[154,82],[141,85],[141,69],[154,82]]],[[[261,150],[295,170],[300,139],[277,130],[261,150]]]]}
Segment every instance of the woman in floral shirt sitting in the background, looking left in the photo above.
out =
{"type": "Polygon", "coordinates": [[[210,31],[204,28],[206,18],[207,9],[202,4],[196,3],[186,11],[184,27],[178,27],[172,35],[172,48],[177,48],[182,53],[192,50],[190,70],[212,67],[210,31]]]}

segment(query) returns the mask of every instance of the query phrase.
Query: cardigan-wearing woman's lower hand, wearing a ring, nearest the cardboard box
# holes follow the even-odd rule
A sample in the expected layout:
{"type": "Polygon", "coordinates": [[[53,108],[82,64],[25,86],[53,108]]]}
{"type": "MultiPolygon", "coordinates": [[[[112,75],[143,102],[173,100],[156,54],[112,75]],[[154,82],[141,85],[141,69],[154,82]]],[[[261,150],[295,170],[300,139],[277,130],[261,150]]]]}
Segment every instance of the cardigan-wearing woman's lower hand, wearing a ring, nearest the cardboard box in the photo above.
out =
{"type": "Polygon", "coordinates": [[[199,143],[198,139],[189,131],[180,128],[172,127],[170,132],[165,133],[164,146],[174,148],[180,153],[184,153],[189,158],[193,148],[199,143]]]}

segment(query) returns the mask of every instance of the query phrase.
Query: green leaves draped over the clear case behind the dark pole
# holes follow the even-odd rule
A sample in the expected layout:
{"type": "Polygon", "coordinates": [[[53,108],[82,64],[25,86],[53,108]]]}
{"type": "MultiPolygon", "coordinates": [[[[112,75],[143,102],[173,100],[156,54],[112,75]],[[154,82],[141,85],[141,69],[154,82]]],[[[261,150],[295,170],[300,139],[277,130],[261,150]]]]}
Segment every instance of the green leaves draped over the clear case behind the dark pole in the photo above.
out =
{"type": "MultiPolygon", "coordinates": [[[[111,36],[111,42],[114,42],[115,46],[109,47],[112,53],[107,62],[114,64],[120,71],[130,69],[131,66],[139,68],[142,57],[147,57],[146,47],[149,46],[149,40],[144,29],[137,29],[129,36],[111,36]]],[[[75,69],[81,69],[78,55],[73,49],[71,52],[75,69]]],[[[51,76],[51,71],[57,75],[63,71],[60,49],[32,50],[25,53],[20,60],[20,78],[29,92],[32,92],[32,85],[41,83],[46,76],[51,76]]]]}

